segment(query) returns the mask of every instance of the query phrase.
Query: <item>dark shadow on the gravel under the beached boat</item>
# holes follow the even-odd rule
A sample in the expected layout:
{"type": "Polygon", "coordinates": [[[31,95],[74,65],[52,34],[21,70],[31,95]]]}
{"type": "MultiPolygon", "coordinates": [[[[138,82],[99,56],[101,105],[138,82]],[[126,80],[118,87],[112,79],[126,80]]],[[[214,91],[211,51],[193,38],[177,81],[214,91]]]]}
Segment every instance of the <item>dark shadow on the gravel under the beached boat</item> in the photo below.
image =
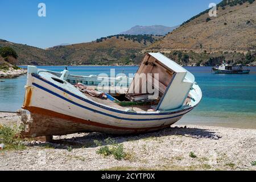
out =
{"type": "MultiPolygon", "coordinates": [[[[79,134],[77,134],[79,135],[79,134]]],[[[146,134],[138,134],[138,135],[108,135],[104,133],[84,133],[81,137],[72,137],[72,138],[62,138],[60,136],[55,136],[55,139],[49,140],[47,143],[38,143],[31,144],[31,146],[39,146],[46,147],[49,144],[52,144],[53,148],[65,149],[68,146],[72,146],[72,148],[87,148],[87,147],[98,147],[98,145],[94,142],[97,140],[101,142],[102,146],[106,146],[109,143],[106,143],[107,139],[113,140],[115,144],[120,144],[127,141],[135,141],[141,139],[152,139],[159,137],[167,137],[167,136],[184,136],[191,138],[208,138],[208,139],[220,139],[221,136],[216,134],[216,132],[207,129],[199,129],[199,128],[189,128],[189,127],[170,127],[167,129],[163,129],[157,132],[151,132],[146,134]],[[58,139],[59,138],[59,139],[58,139]]],[[[68,136],[67,136],[68,137],[68,136]]]]}

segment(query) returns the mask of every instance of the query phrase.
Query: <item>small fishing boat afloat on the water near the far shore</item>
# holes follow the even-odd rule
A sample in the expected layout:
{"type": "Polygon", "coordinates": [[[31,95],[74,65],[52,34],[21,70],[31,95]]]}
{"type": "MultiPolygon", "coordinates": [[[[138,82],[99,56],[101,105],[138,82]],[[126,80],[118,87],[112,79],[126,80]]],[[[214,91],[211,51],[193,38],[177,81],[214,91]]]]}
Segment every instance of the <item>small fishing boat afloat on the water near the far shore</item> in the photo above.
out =
{"type": "Polygon", "coordinates": [[[246,65],[238,65],[233,66],[226,63],[222,63],[221,65],[216,65],[212,70],[214,73],[238,73],[238,74],[247,74],[250,72],[250,69],[243,69],[243,67],[247,67],[246,65]]]}

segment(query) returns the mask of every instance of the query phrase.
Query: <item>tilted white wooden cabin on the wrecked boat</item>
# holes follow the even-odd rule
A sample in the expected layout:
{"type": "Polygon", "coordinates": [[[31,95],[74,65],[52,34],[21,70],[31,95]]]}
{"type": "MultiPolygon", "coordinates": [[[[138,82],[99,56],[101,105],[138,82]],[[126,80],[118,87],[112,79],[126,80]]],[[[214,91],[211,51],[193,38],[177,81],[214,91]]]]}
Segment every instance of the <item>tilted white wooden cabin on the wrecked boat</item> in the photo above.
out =
{"type": "Polygon", "coordinates": [[[195,82],[195,77],[190,72],[162,53],[147,53],[137,71],[138,75],[142,73],[152,74],[153,80],[146,77],[140,81],[135,75],[126,97],[131,101],[152,100],[150,98],[152,93],[148,90],[146,93],[142,92],[145,82],[151,84],[150,86],[158,91],[158,97],[155,99],[159,100],[159,104],[156,110],[172,110],[181,107],[195,82]],[[158,77],[155,74],[158,74],[158,77]],[[139,90],[139,93],[135,90],[139,90]]]}

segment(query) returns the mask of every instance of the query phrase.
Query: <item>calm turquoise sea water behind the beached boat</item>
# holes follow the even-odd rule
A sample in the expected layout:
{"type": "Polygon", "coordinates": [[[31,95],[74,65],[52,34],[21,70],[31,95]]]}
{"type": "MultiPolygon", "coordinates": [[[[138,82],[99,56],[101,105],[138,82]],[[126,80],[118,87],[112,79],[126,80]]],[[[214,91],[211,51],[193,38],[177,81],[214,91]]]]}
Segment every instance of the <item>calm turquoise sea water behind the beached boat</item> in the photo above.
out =
{"type": "MultiPolygon", "coordinates": [[[[39,68],[63,71],[64,66],[39,68]]],[[[185,67],[196,77],[203,100],[178,123],[256,129],[256,67],[249,75],[213,74],[211,67],[185,67]]],[[[78,66],[68,67],[74,75],[135,73],[138,67],[78,66]]],[[[0,110],[15,111],[22,106],[26,76],[0,81],[0,110]]]]}

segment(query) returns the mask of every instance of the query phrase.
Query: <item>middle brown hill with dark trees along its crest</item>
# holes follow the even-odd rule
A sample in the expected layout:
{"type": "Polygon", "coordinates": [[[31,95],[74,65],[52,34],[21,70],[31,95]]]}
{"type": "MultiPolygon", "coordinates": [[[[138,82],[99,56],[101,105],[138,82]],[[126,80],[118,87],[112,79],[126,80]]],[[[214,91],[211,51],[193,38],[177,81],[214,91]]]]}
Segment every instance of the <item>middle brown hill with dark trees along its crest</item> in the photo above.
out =
{"type": "Polygon", "coordinates": [[[111,65],[138,64],[137,52],[161,38],[151,35],[113,35],[94,42],[48,48],[47,51],[65,60],[66,64],[111,65]]]}

